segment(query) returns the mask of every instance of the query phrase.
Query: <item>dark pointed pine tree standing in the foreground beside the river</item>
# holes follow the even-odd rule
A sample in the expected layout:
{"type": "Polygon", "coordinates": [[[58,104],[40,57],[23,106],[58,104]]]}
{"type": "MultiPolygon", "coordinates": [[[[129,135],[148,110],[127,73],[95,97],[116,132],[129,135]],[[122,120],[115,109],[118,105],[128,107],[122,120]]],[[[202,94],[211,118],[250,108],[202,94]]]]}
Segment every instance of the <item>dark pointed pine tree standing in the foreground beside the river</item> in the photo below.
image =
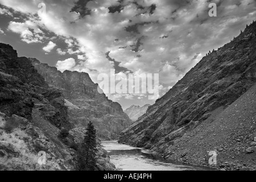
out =
{"type": "Polygon", "coordinates": [[[94,171],[96,169],[97,140],[93,123],[89,122],[84,141],[78,152],[79,171],[94,171]]]}

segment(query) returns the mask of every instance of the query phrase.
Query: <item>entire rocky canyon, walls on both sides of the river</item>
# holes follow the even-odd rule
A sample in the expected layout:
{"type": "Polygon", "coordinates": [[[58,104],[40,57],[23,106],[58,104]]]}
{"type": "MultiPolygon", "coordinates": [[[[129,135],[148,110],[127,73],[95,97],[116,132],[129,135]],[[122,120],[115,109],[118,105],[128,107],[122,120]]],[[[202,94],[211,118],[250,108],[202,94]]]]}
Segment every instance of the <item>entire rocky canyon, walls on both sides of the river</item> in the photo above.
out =
{"type": "Polygon", "coordinates": [[[0,43],[0,168],[75,170],[76,144],[92,121],[98,170],[115,170],[100,140],[164,159],[222,170],[256,169],[256,23],[209,53],[152,106],[125,112],[88,73],[57,71],[0,43]],[[130,117],[130,118],[129,118],[130,117]],[[59,138],[61,130],[69,136],[59,138]],[[46,166],[37,164],[45,151],[46,166]]]}

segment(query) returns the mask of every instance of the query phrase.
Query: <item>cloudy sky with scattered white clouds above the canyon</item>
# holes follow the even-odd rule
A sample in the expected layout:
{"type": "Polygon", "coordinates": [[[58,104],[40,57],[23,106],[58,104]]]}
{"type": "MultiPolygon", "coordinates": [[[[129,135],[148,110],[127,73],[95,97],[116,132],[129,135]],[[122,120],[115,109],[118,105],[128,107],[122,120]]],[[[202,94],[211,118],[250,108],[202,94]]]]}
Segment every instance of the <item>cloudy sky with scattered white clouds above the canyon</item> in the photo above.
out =
{"type": "Polygon", "coordinates": [[[154,104],[255,19],[255,0],[0,0],[0,42],[61,72],[87,72],[98,84],[111,69],[114,75],[159,74],[153,100],[106,94],[126,109],[154,104]],[[210,3],[217,16],[209,16],[210,3]]]}

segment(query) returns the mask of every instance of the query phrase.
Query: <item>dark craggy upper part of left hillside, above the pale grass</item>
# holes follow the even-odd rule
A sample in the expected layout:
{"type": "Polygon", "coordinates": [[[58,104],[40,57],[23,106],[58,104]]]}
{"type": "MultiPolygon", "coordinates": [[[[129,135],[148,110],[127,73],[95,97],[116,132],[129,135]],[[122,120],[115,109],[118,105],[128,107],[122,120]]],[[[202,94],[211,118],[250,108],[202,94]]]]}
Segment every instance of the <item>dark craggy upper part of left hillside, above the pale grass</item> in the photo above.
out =
{"type": "Polygon", "coordinates": [[[0,44],[0,65],[0,110],[3,113],[32,119],[32,109],[36,108],[56,127],[71,128],[60,90],[49,86],[30,60],[18,57],[11,46],[0,44]]]}

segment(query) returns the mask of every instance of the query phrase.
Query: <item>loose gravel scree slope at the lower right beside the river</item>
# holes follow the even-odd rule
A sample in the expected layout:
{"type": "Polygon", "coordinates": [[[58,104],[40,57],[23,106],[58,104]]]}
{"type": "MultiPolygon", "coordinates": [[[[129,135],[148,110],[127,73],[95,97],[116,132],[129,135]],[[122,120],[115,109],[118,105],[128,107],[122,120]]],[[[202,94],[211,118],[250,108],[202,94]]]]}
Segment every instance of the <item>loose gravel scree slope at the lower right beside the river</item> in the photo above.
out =
{"type": "Polygon", "coordinates": [[[255,98],[256,85],[226,109],[214,110],[201,125],[166,148],[164,157],[208,166],[209,151],[216,151],[216,167],[222,170],[255,170],[255,98]]]}

